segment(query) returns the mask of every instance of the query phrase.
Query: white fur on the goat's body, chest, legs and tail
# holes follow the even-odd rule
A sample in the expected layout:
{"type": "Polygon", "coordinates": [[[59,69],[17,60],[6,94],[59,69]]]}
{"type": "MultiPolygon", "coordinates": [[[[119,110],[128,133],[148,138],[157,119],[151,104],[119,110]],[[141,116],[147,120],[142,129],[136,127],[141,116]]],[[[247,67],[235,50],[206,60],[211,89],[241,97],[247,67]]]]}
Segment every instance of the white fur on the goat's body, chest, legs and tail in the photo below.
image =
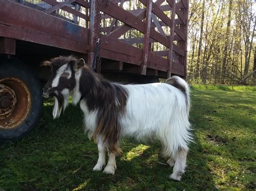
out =
{"type": "MultiPolygon", "coordinates": [[[[90,133],[96,129],[98,111],[89,111],[86,101],[80,101],[80,76],[81,72],[78,70],[77,86],[72,91],[72,97],[73,103],[79,103],[84,112],[85,131],[89,131],[90,136],[90,133]]],[[[127,90],[128,98],[125,112],[118,120],[122,137],[132,136],[138,140],[158,138],[163,144],[163,154],[170,158],[167,163],[170,166],[174,165],[170,178],[180,180],[181,173],[185,171],[188,143],[192,141],[192,136],[188,121],[189,88],[180,77],[176,76],[175,79],[185,88],[186,95],[167,83],[120,85],[127,90]]],[[[117,100],[114,102],[119,104],[117,100]]],[[[55,110],[56,107],[53,109],[55,114],[53,116],[58,115],[55,110]]],[[[100,171],[105,165],[105,147],[100,140],[98,140],[98,149],[99,158],[93,171],[100,171]]],[[[104,173],[114,174],[115,169],[115,153],[109,153],[109,161],[104,173]]]]}

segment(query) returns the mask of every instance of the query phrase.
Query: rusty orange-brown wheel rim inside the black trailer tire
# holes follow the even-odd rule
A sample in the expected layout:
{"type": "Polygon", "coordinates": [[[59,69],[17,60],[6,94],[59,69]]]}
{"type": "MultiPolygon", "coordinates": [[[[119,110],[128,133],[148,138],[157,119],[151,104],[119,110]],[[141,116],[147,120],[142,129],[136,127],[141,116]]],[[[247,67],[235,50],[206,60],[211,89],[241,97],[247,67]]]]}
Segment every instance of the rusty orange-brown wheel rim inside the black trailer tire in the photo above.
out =
{"type": "Polygon", "coordinates": [[[16,77],[0,80],[0,129],[13,129],[28,116],[31,94],[28,86],[16,77]]]}

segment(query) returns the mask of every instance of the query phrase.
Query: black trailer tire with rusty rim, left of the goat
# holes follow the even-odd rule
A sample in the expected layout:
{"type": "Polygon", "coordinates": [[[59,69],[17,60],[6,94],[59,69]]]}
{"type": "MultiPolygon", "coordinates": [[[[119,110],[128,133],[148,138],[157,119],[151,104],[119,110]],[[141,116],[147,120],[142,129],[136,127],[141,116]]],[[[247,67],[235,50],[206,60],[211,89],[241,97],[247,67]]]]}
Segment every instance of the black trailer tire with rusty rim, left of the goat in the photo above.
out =
{"type": "Polygon", "coordinates": [[[35,73],[17,59],[0,60],[0,142],[15,141],[31,132],[42,105],[42,88],[35,73]]]}

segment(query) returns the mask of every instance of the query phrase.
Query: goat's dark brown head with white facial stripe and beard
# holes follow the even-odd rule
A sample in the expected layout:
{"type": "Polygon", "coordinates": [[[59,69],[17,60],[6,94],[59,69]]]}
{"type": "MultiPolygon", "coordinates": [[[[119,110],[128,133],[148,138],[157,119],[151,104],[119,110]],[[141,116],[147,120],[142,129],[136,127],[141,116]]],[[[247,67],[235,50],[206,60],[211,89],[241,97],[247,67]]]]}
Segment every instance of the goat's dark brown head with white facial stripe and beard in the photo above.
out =
{"type": "Polygon", "coordinates": [[[54,97],[55,105],[52,111],[53,118],[59,117],[69,103],[69,95],[79,84],[76,84],[76,73],[85,66],[83,59],[73,56],[59,56],[45,61],[43,66],[51,67],[48,82],[43,87],[44,97],[54,97]]]}

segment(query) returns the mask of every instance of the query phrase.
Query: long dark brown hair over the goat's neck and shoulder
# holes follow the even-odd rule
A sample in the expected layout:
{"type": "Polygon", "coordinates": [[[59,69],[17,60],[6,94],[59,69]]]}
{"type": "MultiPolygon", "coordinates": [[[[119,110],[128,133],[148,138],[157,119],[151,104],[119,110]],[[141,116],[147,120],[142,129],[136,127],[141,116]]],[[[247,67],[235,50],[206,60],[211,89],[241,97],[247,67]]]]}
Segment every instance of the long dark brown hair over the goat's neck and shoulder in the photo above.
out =
{"type": "Polygon", "coordinates": [[[122,154],[119,148],[120,124],[118,118],[125,112],[128,93],[124,87],[111,83],[84,67],[79,89],[90,111],[98,110],[97,126],[92,138],[101,138],[108,150],[122,154]]]}

